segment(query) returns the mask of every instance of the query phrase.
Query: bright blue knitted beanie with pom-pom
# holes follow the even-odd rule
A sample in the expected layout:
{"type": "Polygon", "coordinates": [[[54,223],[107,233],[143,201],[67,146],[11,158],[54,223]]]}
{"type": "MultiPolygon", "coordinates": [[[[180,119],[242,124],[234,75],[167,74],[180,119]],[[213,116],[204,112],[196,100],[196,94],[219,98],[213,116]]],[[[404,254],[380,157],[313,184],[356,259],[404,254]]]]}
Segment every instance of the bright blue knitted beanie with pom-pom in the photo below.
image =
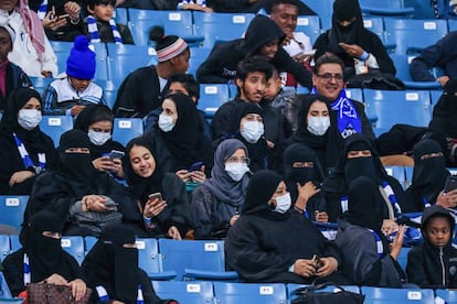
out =
{"type": "Polygon", "coordinates": [[[66,59],[66,75],[78,79],[93,79],[95,75],[95,53],[88,48],[86,36],[75,39],[74,46],[66,59]]]}

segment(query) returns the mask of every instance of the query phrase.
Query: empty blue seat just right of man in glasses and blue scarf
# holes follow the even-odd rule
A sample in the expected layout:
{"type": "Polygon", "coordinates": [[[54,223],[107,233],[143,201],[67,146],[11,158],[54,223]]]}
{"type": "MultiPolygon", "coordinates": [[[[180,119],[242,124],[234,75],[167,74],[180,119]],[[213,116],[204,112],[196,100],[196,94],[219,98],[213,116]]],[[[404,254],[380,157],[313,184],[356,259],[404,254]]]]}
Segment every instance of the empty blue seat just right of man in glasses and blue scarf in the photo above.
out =
{"type": "Polygon", "coordinates": [[[395,123],[426,127],[432,119],[427,90],[364,89],[363,95],[368,115],[378,117],[376,128],[389,129],[395,123]]]}

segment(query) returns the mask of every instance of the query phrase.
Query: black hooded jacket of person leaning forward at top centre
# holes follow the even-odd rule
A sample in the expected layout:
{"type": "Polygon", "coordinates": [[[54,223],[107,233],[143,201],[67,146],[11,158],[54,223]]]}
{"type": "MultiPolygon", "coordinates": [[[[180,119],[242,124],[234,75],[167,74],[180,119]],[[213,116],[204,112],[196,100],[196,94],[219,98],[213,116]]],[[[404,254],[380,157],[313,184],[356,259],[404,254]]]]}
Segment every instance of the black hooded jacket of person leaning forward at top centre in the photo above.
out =
{"type": "MultiPolygon", "coordinates": [[[[279,39],[280,44],[284,37],[283,30],[273,20],[256,15],[244,39],[214,45],[206,61],[196,70],[196,79],[202,84],[226,84],[235,79],[236,66],[244,57],[256,54],[263,45],[275,39],[279,39]]],[[[283,47],[278,47],[270,63],[278,72],[288,72],[304,87],[311,88],[311,74],[296,63],[283,47]]]]}

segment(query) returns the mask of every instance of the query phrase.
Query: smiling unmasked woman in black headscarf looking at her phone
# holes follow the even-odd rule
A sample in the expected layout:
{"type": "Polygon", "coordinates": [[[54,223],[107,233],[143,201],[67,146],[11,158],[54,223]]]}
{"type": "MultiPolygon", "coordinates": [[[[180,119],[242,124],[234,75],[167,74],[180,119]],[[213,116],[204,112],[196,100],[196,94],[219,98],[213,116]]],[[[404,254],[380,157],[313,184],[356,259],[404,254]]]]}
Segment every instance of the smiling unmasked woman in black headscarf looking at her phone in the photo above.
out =
{"type": "Polygon", "coordinates": [[[123,165],[147,236],[182,239],[191,226],[184,183],[176,174],[163,172],[150,141],[145,138],[127,144],[123,165]]]}

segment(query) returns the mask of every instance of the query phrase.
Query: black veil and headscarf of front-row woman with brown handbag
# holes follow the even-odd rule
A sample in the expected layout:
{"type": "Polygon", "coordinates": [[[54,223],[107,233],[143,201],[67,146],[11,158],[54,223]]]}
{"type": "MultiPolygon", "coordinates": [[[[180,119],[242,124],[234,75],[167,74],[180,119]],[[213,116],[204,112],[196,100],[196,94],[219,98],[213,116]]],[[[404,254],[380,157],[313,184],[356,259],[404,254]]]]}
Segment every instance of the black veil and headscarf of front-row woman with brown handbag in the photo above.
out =
{"type": "Polygon", "coordinates": [[[32,216],[30,225],[21,231],[21,243],[29,257],[31,282],[41,282],[53,273],[68,281],[74,271],[68,256],[61,247],[61,240],[43,236],[43,231],[62,234],[63,220],[52,211],[42,210],[32,216]]]}

